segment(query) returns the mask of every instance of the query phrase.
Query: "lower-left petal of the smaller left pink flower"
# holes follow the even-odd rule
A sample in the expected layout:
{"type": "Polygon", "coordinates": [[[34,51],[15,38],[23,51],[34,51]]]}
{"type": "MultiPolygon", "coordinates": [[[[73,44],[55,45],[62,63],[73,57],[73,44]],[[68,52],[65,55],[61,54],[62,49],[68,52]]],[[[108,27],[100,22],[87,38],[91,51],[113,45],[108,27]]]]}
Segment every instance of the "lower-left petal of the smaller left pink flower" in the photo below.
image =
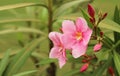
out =
{"type": "Polygon", "coordinates": [[[60,54],[60,48],[59,47],[53,47],[51,50],[50,50],[50,53],[49,53],[49,58],[58,58],[59,57],[59,54],[60,54]]]}

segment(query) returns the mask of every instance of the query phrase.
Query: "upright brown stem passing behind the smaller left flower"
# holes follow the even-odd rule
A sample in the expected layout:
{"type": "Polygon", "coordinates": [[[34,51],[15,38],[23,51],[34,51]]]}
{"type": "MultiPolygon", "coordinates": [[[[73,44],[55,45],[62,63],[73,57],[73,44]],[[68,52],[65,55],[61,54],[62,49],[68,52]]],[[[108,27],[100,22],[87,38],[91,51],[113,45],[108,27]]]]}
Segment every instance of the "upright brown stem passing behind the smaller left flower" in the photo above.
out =
{"type": "MultiPolygon", "coordinates": [[[[53,11],[52,11],[52,0],[48,0],[48,33],[52,31],[53,25],[53,11]]],[[[49,50],[53,47],[52,42],[49,40],[49,50]]],[[[55,63],[50,63],[50,66],[47,68],[47,76],[56,76],[56,65],[55,63]]]]}

